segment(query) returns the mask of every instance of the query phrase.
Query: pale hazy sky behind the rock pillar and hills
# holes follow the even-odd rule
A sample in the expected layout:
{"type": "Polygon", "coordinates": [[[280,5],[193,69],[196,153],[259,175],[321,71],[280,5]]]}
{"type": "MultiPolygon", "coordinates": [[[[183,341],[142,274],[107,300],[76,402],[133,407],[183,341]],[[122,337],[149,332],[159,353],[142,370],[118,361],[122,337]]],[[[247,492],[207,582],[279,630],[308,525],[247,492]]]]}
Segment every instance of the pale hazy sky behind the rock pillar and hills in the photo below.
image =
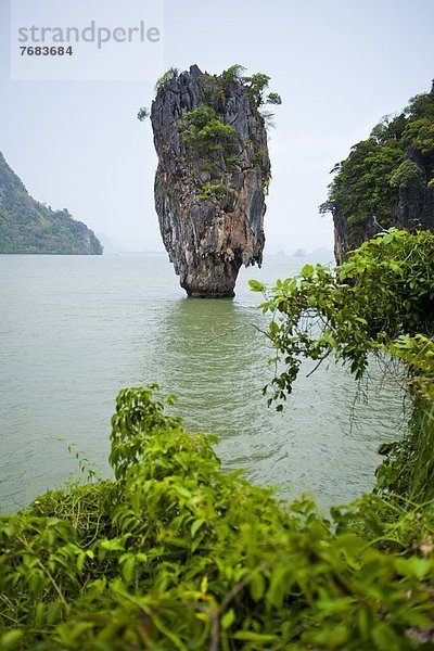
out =
{"type": "MultiPolygon", "coordinates": [[[[149,80],[16,81],[11,2],[0,0],[0,151],[35,199],[126,250],[163,248],[151,124],[136,115],[169,66],[240,63],[271,76],[283,104],[270,130],[265,228],[267,250],[286,253],[332,246],[331,217],[318,214],[330,169],[434,77],[433,0],[165,0],[164,62],[149,80]]],[[[108,11],[128,0],[56,0],[89,20],[102,2],[108,11]]]]}

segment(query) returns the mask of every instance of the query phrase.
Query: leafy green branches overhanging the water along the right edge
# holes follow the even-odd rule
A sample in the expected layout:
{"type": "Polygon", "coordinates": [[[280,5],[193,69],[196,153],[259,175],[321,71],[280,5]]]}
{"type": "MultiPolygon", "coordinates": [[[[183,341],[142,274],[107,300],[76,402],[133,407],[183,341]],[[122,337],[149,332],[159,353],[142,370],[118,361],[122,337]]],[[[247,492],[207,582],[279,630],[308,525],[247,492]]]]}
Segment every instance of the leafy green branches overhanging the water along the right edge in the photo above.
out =
{"type": "Polygon", "coordinates": [[[298,276],[264,292],[272,314],[268,337],[277,355],[269,404],[278,409],[291,393],[303,358],[321,363],[329,355],[349,367],[356,379],[370,355],[393,365],[394,380],[413,398],[403,441],[388,444],[378,470],[376,493],[406,500],[434,498],[434,234],[390,229],[334,270],[305,265],[298,276]]]}

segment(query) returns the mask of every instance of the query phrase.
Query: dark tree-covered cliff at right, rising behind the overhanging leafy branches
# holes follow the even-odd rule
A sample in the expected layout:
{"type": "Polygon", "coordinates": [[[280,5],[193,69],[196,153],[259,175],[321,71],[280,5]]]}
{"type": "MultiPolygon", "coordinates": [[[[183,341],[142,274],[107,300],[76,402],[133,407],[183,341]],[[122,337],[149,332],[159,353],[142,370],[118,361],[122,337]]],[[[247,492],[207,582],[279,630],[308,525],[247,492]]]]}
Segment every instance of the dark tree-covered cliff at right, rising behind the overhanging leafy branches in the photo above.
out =
{"type": "Polygon", "coordinates": [[[329,199],[320,210],[333,213],[336,237],[346,251],[381,228],[433,230],[434,91],[384,117],[332,173],[329,199]]]}

